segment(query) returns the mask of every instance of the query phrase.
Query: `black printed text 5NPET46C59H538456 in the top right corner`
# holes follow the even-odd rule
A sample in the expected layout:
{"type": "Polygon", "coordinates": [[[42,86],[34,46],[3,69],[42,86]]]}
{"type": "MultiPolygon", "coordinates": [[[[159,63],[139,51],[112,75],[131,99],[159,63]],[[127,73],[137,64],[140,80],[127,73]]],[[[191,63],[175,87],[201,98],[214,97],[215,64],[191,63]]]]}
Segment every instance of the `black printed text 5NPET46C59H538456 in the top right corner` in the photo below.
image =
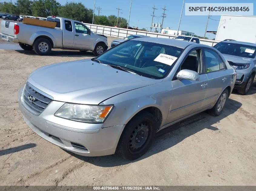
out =
{"type": "Polygon", "coordinates": [[[189,7],[188,11],[250,11],[249,7],[189,7]]]}

